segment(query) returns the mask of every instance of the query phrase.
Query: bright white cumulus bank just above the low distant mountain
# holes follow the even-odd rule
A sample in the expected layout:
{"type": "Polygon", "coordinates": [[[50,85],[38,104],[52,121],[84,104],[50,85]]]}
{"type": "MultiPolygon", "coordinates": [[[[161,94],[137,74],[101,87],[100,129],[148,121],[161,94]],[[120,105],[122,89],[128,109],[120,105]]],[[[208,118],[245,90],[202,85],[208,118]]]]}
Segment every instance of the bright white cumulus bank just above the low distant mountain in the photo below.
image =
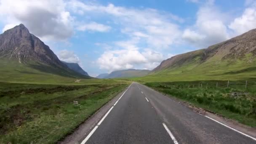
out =
{"type": "Polygon", "coordinates": [[[143,52],[134,49],[123,49],[114,51],[105,51],[97,60],[101,69],[107,69],[109,72],[120,69],[131,69],[142,67],[144,69],[155,68],[163,55],[159,52],[145,49],[143,52]]]}

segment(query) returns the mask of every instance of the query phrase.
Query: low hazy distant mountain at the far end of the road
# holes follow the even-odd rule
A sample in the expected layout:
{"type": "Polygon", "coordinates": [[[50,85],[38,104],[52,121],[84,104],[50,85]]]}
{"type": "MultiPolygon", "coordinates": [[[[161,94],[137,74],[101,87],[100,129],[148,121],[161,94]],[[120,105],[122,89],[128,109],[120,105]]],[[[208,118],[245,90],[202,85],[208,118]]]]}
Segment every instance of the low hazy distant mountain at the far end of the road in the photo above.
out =
{"type": "MultiPolygon", "coordinates": [[[[102,78],[117,78],[117,77],[142,77],[148,75],[150,70],[147,69],[125,69],[113,71],[110,74],[99,75],[102,78]]],[[[98,77],[99,77],[98,76],[98,77]]]]}

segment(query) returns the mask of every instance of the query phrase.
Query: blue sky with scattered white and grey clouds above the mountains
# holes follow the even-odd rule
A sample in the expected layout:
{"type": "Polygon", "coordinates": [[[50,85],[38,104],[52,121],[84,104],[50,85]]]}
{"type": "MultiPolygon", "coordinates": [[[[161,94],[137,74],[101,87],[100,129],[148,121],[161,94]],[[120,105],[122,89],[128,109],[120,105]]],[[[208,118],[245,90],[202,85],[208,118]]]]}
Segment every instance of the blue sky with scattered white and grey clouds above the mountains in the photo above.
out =
{"type": "Polygon", "coordinates": [[[0,0],[0,29],[24,24],[90,76],[154,69],[256,28],[256,0],[0,0]]]}

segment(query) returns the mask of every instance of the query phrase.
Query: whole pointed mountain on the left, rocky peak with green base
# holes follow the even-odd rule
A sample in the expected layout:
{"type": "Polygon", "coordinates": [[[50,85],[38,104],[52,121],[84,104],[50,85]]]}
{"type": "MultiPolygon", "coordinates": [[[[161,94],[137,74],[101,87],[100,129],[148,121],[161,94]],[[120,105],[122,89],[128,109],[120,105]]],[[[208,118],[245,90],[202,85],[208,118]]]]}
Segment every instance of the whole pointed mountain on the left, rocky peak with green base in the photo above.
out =
{"type": "Polygon", "coordinates": [[[0,64],[0,80],[3,81],[33,80],[43,76],[49,79],[56,79],[56,76],[91,78],[62,63],[48,45],[30,34],[23,24],[0,35],[0,64]]]}

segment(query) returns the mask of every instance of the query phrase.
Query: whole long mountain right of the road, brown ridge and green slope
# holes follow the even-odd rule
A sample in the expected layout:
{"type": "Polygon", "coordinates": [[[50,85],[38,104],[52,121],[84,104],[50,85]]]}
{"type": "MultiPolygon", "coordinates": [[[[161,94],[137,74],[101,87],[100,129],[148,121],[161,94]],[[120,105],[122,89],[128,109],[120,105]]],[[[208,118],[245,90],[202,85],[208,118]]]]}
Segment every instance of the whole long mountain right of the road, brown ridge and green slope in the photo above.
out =
{"type": "Polygon", "coordinates": [[[252,29],[208,48],[166,59],[147,77],[151,80],[159,77],[168,77],[165,80],[201,80],[222,79],[226,75],[225,79],[240,79],[254,77],[255,64],[256,29],[252,29]]]}

